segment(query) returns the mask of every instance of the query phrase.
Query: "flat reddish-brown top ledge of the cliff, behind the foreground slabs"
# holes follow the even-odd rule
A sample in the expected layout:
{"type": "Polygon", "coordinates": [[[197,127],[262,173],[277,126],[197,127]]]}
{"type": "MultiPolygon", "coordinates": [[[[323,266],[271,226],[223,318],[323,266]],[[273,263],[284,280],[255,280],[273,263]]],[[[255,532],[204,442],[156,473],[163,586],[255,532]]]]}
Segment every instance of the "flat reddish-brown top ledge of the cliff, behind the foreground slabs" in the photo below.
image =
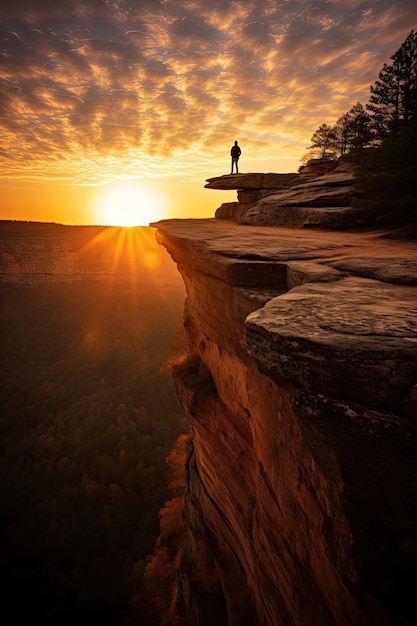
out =
{"type": "MultiPolygon", "coordinates": [[[[328,229],[285,226],[241,225],[207,219],[163,220],[151,224],[175,253],[175,241],[194,255],[213,255],[261,260],[319,260],[329,263],[348,259],[372,258],[381,267],[395,265],[397,259],[417,261],[417,243],[383,239],[382,231],[345,232],[328,229]],[[171,243],[170,243],[171,242],[171,243]]],[[[213,261],[215,259],[213,258],[213,261]]],[[[339,268],[337,268],[339,269],[339,268]]],[[[372,277],[369,274],[369,277],[372,277]]]]}

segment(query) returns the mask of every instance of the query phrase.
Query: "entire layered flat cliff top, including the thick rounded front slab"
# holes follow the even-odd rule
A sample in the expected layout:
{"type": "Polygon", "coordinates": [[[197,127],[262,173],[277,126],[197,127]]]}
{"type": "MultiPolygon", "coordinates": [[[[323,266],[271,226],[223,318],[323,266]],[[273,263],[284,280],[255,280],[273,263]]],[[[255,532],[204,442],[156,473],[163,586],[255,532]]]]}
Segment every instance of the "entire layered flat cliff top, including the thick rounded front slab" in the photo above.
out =
{"type": "Polygon", "coordinates": [[[416,242],[214,218],[153,226],[180,265],[239,289],[287,290],[246,319],[246,348],[270,375],[384,410],[406,401],[417,383],[416,242]]]}

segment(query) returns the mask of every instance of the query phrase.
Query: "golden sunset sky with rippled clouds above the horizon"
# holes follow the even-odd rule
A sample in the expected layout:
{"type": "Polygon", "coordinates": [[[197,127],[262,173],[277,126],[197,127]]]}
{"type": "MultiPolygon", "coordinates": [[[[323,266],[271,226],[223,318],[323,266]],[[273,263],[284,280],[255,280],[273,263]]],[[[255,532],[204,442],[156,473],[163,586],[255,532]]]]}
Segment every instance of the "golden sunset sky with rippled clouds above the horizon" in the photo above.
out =
{"type": "Polygon", "coordinates": [[[416,27],[415,0],[3,2],[0,219],[213,217],[235,140],[296,172],[416,27]]]}

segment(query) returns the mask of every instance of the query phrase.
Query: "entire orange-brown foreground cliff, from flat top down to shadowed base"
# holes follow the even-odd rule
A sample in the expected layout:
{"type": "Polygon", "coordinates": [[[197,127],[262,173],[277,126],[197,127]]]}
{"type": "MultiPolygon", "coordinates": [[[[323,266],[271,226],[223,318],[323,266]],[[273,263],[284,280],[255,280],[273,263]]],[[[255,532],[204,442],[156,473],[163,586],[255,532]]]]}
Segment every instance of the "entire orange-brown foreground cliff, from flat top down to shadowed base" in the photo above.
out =
{"type": "Polygon", "coordinates": [[[416,245],[156,226],[187,289],[187,626],[416,623],[416,245]]]}

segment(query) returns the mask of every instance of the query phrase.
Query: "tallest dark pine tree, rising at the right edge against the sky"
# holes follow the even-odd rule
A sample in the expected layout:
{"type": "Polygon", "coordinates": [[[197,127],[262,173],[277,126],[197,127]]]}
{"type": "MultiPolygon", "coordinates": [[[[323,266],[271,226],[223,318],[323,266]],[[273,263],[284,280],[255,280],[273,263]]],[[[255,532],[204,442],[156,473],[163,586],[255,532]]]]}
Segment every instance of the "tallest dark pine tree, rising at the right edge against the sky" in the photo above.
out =
{"type": "Polygon", "coordinates": [[[375,139],[397,132],[417,115],[417,33],[412,30],[391,59],[371,86],[366,105],[375,139]]]}

